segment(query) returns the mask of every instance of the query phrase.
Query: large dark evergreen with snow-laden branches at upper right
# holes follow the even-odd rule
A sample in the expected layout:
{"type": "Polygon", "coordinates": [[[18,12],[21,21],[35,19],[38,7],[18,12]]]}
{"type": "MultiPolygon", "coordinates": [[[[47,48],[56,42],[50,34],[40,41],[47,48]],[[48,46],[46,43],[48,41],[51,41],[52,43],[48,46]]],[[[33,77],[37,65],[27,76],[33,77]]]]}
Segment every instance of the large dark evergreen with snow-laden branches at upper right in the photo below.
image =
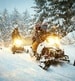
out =
{"type": "Polygon", "coordinates": [[[74,0],[34,0],[36,6],[36,21],[48,22],[52,25],[68,31],[71,25],[71,18],[74,15],[74,0]]]}

